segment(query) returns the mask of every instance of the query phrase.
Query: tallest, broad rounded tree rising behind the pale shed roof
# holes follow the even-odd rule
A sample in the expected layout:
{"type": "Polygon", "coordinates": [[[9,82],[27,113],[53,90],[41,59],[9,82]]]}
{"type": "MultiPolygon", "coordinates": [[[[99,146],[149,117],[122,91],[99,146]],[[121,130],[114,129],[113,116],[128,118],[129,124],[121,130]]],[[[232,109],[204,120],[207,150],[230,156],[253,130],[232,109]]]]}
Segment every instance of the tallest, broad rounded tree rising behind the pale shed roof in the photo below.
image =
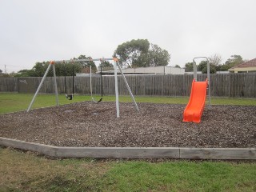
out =
{"type": "Polygon", "coordinates": [[[166,66],[170,61],[170,54],[158,45],[150,44],[147,39],[124,42],[114,51],[114,57],[121,65],[130,67],[166,66]]]}

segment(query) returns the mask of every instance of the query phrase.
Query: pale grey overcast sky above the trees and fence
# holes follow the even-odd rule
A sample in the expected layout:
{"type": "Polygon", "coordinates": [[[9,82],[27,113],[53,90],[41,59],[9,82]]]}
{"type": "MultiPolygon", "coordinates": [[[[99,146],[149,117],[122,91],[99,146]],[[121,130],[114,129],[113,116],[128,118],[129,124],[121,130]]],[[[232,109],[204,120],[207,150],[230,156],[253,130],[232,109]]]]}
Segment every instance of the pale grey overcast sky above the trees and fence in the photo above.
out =
{"type": "Polygon", "coordinates": [[[0,70],[81,54],[110,58],[148,39],[170,66],[213,54],[256,58],[255,0],[0,0],[0,70]]]}

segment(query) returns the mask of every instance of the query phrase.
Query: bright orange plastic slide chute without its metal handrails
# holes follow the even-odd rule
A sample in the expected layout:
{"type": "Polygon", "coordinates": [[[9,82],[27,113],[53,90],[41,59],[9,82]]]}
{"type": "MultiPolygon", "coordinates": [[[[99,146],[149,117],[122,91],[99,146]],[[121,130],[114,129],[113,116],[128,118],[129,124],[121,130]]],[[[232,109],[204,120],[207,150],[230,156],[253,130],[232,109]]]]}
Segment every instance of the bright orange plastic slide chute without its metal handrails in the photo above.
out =
{"type": "Polygon", "coordinates": [[[183,122],[200,122],[206,102],[206,79],[205,82],[192,82],[190,101],[183,113],[183,122]]]}

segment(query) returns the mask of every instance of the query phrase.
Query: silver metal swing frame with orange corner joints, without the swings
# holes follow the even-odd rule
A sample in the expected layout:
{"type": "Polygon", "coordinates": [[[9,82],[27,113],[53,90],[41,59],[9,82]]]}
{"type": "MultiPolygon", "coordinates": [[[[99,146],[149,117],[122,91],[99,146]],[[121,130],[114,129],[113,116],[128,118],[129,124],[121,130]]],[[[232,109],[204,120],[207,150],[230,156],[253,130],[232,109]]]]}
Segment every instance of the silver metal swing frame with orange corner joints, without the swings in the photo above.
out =
{"type": "MultiPolygon", "coordinates": [[[[46,80],[46,75],[48,74],[50,67],[53,66],[53,71],[54,71],[54,90],[55,90],[55,98],[56,98],[56,106],[59,106],[59,102],[58,102],[58,87],[57,87],[57,80],[56,80],[56,72],[55,72],[55,63],[62,63],[62,62],[90,62],[90,61],[101,61],[102,58],[96,58],[96,59],[76,59],[76,60],[62,60],[62,61],[51,61],[50,65],[47,67],[46,69],[46,73],[43,75],[42,77],[42,81],[40,82],[38,89],[36,90],[34,97],[32,98],[32,101],[30,102],[30,106],[28,107],[28,109],[26,110],[27,112],[29,112],[31,110],[31,107],[34,104],[34,100],[38,95],[39,90],[42,87],[43,82],[46,80]]],[[[126,83],[126,88],[129,91],[130,94],[130,98],[132,98],[133,102],[134,102],[134,106],[135,109],[137,111],[139,111],[138,109],[138,105],[135,101],[134,95],[132,94],[131,90],[130,90],[130,86],[128,84],[128,82],[126,81],[126,77],[125,75],[122,73],[122,69],[121,66],[118,63],[118,58],[104,58],[104,60],[106,61],[114,61],[114,87],[115,87],[115,102],[116,102],[116,112],[117,112],[117,118],[120,117],[120,112],[119,112],[119,95],[118,95],[118,69],[121,72],[122,78],[124,80],[124,82],[126,83]]]]}

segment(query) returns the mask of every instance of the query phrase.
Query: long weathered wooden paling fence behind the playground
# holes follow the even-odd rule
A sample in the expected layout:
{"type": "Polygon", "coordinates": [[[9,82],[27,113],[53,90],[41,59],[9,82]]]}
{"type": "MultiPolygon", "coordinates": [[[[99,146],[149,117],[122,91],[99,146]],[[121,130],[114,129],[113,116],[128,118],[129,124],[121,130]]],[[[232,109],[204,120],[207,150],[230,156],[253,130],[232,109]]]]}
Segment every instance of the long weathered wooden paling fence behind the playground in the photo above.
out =
{"type": "MultiPolygon", "coordinates": [[[[134,95],[189,96],[193,75],[126,75],[134,95]]],[[[42,78],[0,78],[0,92],[34,93],[42,78]]],[[[205,81],[206,74],[198,74],[205,81]]],[[[65,93],[64,77],[57,78],[58,93],[65,93]]],[[[114,94],[114,76],[102,76],[103,94],[114,94]]],[[[72,93],[72,77],[66,77],[67,92],[72,93]]],[[[99,76],[92,77],[94,94],[101,94],[99,76]]],[[[119,94],[129,94],[125,82],[118,76],[119,94]]],[[[210,74],[212,96],[256,98],[256,73],[210,74]]],[[[74,77],[75,94],[90,94],[90,77],[74,77]]],[[[48,77],[40,93],[54,94],[54,78],[48,77]]]]}

